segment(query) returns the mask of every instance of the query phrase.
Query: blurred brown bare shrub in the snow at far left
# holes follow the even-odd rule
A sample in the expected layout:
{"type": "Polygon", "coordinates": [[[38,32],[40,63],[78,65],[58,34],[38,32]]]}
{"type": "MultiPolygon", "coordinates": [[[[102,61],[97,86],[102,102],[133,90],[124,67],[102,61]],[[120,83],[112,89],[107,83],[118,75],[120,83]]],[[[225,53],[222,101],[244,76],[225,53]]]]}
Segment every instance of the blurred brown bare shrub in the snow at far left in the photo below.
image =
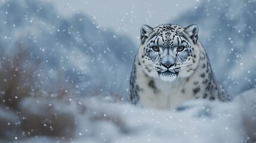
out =
{"type": "Polygon", "coordinates": [[[7,52],[0,47],[0,138],[72,138],[75,117],[72,111],[65,111],[77,104],[69,100],[72,90],[59,81],[47,92],[37,88],[35,72],[40,69],[40,60],[28,57],[29,48],[17,45],[7,52]]]}

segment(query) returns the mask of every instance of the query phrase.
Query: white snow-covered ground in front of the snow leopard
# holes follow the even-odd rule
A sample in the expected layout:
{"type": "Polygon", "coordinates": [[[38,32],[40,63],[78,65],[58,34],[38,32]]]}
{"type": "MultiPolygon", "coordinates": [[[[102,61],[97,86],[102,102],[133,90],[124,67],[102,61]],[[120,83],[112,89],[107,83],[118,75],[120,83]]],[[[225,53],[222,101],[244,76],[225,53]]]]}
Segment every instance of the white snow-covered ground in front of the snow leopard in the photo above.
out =
{"type": "MultiPolygon", "coordinates": [[[[32,136],[16,142],[255,142],[255,92],[246,91],[229,103],[190,101],[175,111],[138,108],[109,98],[83,98],[79,104],[55,104],[60,112],[75,117],[71,138],[32,136]]],[[[24,108],[35,103],[28,102],[24,108]]]]}

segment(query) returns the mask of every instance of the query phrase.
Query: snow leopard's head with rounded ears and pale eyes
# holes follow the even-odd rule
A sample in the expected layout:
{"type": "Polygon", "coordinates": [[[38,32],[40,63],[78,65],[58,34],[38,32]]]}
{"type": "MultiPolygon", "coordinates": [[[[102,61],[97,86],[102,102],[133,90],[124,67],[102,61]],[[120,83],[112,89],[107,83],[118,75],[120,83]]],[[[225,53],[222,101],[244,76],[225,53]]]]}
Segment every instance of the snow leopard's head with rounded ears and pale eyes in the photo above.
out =
{"type": "Polygon", "coordinates": [[[168,82],[190,76],[198,64],[197,34],[195,24],[187,28],[176,24],[163,24],[155,29],[142,26],[138,65],[149,76],[168,82]]]}

